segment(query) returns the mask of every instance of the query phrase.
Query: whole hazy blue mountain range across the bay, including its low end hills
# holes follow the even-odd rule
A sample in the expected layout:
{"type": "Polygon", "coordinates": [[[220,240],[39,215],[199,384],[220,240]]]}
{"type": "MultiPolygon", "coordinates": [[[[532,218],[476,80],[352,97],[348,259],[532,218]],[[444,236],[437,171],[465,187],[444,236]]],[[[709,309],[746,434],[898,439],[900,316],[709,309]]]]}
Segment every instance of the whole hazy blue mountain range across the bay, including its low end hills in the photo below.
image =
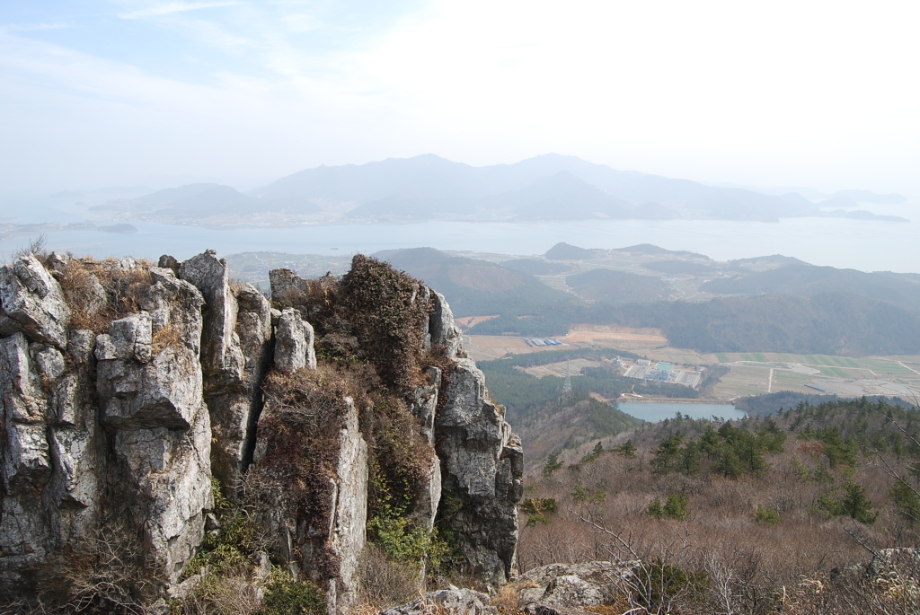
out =
{"type": "Polygon", "coordinates": [[[546,154],[513,165],[471,166],[433,154],[365,165],[319,166],[248,193],[189,184],[94,210],[158,222],[413,222],[711,219],[775,221],[799,216],[890,218],[854,210],[901,202],[899,195],[849,190],[823,207],[799,193],[770,195],[688,179],[618,171],[574,156],[546,154]],[[833,206],[835,211],[826,211],[833,206]],[[264,219],[264,216],[269,216],[264,219]]]}

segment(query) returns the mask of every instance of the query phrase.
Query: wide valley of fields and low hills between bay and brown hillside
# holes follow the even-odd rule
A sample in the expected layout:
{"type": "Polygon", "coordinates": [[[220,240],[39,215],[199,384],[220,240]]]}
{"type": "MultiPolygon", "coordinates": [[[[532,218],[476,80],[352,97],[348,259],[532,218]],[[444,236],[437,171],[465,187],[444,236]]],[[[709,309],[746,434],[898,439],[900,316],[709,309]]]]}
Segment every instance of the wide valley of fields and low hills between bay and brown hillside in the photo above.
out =
{"type": "MultiPolygon", "coordinates": [[[[431,248],[376,256],[450,297],[466,351],[477,361],[598,351],[609,374],[620,378],[630,375],[635,360],[626,358],[635,356],[684,370],[678,382],[693,392],[684,398],[716,402],[780,392],[920,397],[920,340],[914,339],[920,276],[914,274],[815,267],[778,255],[717,261],[647,244],[560,243],[535,256],[431,248]],[[536,336],[561,346],[526,341],[536,336]],[[866,351],[872,349],[880,351],[866,351]],[[618,366],[617,356],[624,357],[618,366]]],[[[257,283],[268,268],[320,276],[348,264],[345,255],[246,253],[227,260],[237,277],[257,283]]],[[[593,360],[572,357],[568,366],[565,356],[535,360],[526,373],[559,379],[561,386],[570,370],[577,387],[584,370],[600,367],[593,360]]],[[[630,381],[640,382],[624,382],[630,381]]],[[[641,399],[628,388],[613,397],[591,393],[612,402],[620,393],[641,399]]]]}

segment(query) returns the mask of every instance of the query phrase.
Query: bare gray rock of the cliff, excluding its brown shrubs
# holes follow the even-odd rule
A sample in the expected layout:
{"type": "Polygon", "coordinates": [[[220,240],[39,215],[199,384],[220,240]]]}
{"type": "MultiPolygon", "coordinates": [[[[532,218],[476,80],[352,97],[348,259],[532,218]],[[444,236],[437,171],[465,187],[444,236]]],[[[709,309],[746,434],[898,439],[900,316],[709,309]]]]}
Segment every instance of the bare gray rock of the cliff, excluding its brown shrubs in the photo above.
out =
{"type": "MultiPolygon", "coordinates": [[[[86,301],[71,307],[96,316],[80,322],[98,335],[71,329],[58,279],[72,283],[69,267],[78,265],[86,263],[53,255],[46,268],[25,256],[0,268],[0,588],[33,596],[41,575],[60,575],[54,566],[92,554],[103,537],[116,554],[140,549],[139,563],[158,579],[141,592],[152,602],[178,584],[208,518],[214,527],[212,477],[234,497],[259,447],[264,453],[257,427],[268,371],[316,370],[314,332],[300,312],[273,310],[255,287],[231,284],[212,251],[183,263],[165,256],[159,267],[125,258],[81,269],[86,301]],[[132,293],[132,307],[119,302],[108,324],[98,316],[114,309],[111,290],[99,279],[127,280],[132,293]]],[[[270,278],[276,293],[308,288],[291,271],[270,278]]],[[[426,346],[460,356],[450,308],[426,291],[434,305],[426,346]]],[[[517,539],[520,442],[472,361],[457,359],[443,376],[430,368],[430,382],[407,400],[423,437],[437,443],[408,515],[431,529],[442,485],[450,489],[463,507],[445,522],[461,532],[468,572],[502,583],[517,539]]],[[[328,432],[338,433],[335,448],[323,458],[328,518],[275,510],[268,524],[276,554],[326,583],[338,612],[353,606],[360,583],[369,481],[359,411],[343,402],[328,432]]],[[[469,590],[427,599],[449,612],[495,612],[469,590]]]]}

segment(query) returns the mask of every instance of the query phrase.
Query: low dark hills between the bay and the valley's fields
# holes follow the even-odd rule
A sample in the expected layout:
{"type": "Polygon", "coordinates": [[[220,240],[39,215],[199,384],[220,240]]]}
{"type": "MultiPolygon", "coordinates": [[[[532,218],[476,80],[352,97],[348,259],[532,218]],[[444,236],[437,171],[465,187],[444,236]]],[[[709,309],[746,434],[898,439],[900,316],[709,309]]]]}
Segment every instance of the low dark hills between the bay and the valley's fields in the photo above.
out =
{"type": "Polygon", "coordinates": [[[559,244],[542,257],[504,262],[432,248],[374,256],[443,289],[457,316],[493,316],[470,333],[558,336],[590,323],[656,327],[673,346],[700,352],[920,352],[917,274],[785,256],[722,262],[654,245],[559,244]]]}

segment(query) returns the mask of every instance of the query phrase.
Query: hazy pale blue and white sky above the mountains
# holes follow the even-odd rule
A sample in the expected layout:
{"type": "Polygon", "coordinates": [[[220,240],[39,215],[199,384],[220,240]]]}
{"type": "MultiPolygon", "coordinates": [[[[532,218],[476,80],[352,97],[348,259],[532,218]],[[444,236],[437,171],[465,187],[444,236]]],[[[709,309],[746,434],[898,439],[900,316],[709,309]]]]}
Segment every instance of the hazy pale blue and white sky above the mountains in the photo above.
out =
{"type": "Polygon", "coordinates": [[[557,152],[920,195],[918,17],[915,0],[0,0],[0,188],[557,152]]]}

